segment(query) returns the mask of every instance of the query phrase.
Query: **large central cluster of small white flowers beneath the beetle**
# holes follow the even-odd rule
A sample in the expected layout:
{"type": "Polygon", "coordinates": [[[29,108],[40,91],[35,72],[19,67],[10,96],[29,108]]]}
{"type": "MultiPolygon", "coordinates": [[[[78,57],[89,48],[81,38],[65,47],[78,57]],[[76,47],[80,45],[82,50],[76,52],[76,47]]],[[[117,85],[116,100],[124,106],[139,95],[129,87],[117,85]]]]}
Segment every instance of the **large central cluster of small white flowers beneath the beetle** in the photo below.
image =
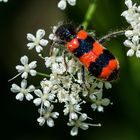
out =
{"type": "MultiPolygon", "coordinates": [[[[55,30],[49,35],[51,40],[55,40],[55,30]]],[[[90,102],[91,110],[103,112],[104,106],[110,104],[110,100],[103,98],[103,90],[111,88],[109,82],[103,82],[91,76],[87,70],[82,71],[82,65],[72,54],[64,52],[62,46],[54,47],[50,56],[43,57],[40,52],[42,46],[48,44],[48,40],[42,39],[45,31],[39,29],[36,37],[27,34],[27,39],[32,41],[27,44],[29,50],[35,48],[36,52],[43,59],[46,69],[50,69],[50,74],[40,73],[35,70],[37,61],[28,62],[26,55],[22,56],[20,61],[22,65],[17,65],[16,69],[23,80],[21,86],[12,84],[11,91],[17,93],[16,99],[23,101],[24,97],[28,101],[33,101],[38,107],[39,117],[37,122],[44,125],[45,122],[49,127],[54,126],[54,119],[59,116],[59,111],[55,110],[55,105],[59,103],[64,105],[63,113],[68,116],[68,126],[72,126],[70,134],[75,136],[78,134],[78,128],[87,130],[89,126],[100,126],[100,124],[91,124],[85,122],[92,120],[83,110],[84,104],[90,102]],[[35,87],[30,85],[27,87],[28,76],[44,76],[35,87]]],[[[40,57],[39,57],[40,58],[40,57]]],[[[46,71],[46,70],[45,70],[46,71]]]]}

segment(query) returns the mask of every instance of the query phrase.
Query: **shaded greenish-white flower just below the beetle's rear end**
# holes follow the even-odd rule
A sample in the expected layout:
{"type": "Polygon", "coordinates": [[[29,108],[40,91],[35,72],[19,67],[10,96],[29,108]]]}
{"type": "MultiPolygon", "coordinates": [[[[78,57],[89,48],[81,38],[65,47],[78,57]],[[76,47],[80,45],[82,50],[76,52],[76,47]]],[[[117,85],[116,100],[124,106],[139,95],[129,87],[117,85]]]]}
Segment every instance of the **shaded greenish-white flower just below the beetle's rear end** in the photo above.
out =
{"type": "Polygon", "coordinates": [[[107,106],[110,103],[110,100],[108,98],[104,98],[102,99],[102,90],[96,91],[92,94],[90,94],[90,99],[93,102],[93,104],[91,105],[91,108],[93,110],[98,110],[99,112],[103,112],[103,106],[107,106]]]}

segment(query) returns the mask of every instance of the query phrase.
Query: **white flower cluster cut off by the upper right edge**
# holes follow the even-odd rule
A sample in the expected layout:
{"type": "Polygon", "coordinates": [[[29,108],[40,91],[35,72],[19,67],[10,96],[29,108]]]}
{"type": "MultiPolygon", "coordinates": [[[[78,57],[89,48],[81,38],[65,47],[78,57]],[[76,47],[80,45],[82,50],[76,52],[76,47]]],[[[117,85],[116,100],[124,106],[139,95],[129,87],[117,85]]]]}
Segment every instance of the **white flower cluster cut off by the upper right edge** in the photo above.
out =
{"type": "Polygon", "coordinates": [[[131,0],[125,0],[125,4],[128,10],[124,11],[122,16],[130,24],[130,29],[125,32],[128,39],[124,42],[124,45],[130,48],[127,56],[135,54],[136,57],[140,57],[140,6],[132,4],[131,0]]]}

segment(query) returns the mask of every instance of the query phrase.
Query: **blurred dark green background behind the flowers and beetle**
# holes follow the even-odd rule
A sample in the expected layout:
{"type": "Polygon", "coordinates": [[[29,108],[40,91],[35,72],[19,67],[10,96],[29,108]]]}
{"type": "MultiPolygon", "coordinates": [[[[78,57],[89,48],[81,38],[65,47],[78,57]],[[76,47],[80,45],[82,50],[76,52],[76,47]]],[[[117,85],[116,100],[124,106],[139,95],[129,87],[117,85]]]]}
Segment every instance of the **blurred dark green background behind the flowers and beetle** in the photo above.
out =
{"type": "MultiPolygon", "coordinates": [[[[111,39],[105,44],[120,61],[120,79],[113,88],[105,91],[104,96],[111,99],[113,105],[105,108],[104,113],[92,112],[87,108],[93,122],[102,123],[102,127],[90,127],[80,131],[77,137],[69,135],[67,118],[60,116],[56,126],[40,127],[36,122],[39,116],[37,108],[27,101],[18,102],[10,92],[13,82],[20,84],[20,78],[8,83],[16,74],[15,65],[23,55],[30,60],[37,59],[35,51],[26,48],[26,33],[35,34],[36,30],[46,30],[46,38],[51,27],[59,21],[72,21],[79,25],[83,21],[90,0],[77,0],[75,7],[68,6],[65,11],[57,8],[58,0],[9,0],[0,3],[0,103],[1,137],[9,140],[140,140],[140,59],[126,57],[125,37],[111,39]]],[[[133,0],[140,5],[140,0],[133,0]]],[[[124,0],[97,0],[89,30],[95,30],[97,39],[111,31],[125,29],[127,23],[121,17],[126,10],[124,0]]],[[[47,52],[48,48],[44,49],[47,52]]],[[[39,61],[43,70],[43,62],[39,61]]],[[[38,85],[40,79],[29,78],[28,83],[38,85]]],[[[61,106],[58,107],[61,110],[61,106]]]]}

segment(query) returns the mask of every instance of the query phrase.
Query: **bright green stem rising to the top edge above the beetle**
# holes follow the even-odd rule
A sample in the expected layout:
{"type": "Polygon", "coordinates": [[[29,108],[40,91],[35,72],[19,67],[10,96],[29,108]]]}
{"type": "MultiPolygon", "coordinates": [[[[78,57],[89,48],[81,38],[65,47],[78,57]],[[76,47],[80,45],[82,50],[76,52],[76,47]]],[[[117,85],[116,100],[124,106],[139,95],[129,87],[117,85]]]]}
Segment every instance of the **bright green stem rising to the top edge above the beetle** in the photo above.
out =
{"type": "Polygon", "coordinates": [[[95,9],[96,9],[96,0],[91,0],[91,3],[89,4],[88,10],[85,14],[85,19],[82,23],[85,30],[88,28],[88,25],[93,18],[93,14],[95,12],[95,9]]]}

